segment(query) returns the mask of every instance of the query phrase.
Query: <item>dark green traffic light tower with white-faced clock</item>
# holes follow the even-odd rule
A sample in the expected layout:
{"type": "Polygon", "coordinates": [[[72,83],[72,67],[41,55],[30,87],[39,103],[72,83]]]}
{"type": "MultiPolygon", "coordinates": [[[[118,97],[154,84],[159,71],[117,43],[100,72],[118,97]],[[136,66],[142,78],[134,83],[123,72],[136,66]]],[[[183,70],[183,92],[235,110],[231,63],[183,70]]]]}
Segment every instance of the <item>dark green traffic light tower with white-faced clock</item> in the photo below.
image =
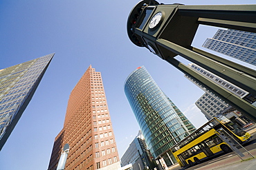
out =
{"type": "Polygon", "coordinates": [[[256,96],[255,70],[191,46],[199,24],[256,32],[256,5],[184,6],[144,0],[131,10],[127,34],[132,43],[147,47],[256,122],[255,106],[174,59],[182,56],[256,96]]]}

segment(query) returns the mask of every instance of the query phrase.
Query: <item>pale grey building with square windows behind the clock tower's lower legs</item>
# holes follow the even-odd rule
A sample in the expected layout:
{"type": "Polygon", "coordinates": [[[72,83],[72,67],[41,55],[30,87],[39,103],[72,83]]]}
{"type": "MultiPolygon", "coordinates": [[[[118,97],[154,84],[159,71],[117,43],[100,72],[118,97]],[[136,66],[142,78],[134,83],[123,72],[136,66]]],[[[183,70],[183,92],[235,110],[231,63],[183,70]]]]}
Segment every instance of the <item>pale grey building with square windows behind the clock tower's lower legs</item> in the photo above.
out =
{"type": "MultiPolygon", "coordinates": [[[[199,65],[190,63],[188,66],[192,70],[195,70],[196,72],[199,72],[201,75],[205,76],[206,78],[209,78],[214,83],[221,85],[221,87],[227,89],[229,92],[232,92],[236,96],[239,96],[239,98],[243,98],[244,100],[248,101],[252,105],[256,105],[255,96],[249,94],[246,90],[241,89],[236,85],[233,85],[232,83],[226,81],[225,79],[215,74],[212,74],[212,72],[205,70],[203,67],[200,67],[199,65]]],[[[239,125],[241,125],[241,127],[245,127],[248,123],[252,122],[251,120],[246,118],[246,116],[242,116],[239,111],[237,111],[231,105],[226,103],[224,100],[222,100],[215,94],[212,94],[212,92],[210,92],[208,89],[205,89],[204,87],[202,87],[193,78],[191,78],[188,75],[185,75],[185,77],[188,78],[190,81],[192,81],[192,83],[194,83],[195,85],[203,89],[203,91],[205,91],[205,94],[203,94],[203,96],[201,96],[201,98],[199,98],[199,100],[197,100],[195,103],[196,106],[199,107],[201,112],[205,115],[205,118],[210,120],[213,117],[219,117],[219,116],[227,116],[230,118],[235,116],[235,119],[236,119],[235,121],[239,125]]]]}

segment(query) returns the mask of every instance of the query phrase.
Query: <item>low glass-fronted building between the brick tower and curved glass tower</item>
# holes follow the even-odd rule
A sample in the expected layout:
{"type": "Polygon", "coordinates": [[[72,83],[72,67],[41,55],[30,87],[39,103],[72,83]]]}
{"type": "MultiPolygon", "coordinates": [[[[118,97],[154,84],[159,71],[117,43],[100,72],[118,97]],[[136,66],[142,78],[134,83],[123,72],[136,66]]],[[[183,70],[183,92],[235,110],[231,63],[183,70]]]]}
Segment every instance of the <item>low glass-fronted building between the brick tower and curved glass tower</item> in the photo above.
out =
{"type": "Polygon", "coordinates": [[[132,164],[131,169],[154,169],[156,164],[152,158],[152,154],[145,142],[145,138],[141,131],[139,131],[138,136],[131,142],[128,149],[125,151],[121,158],[122,167],[132,164]]]}

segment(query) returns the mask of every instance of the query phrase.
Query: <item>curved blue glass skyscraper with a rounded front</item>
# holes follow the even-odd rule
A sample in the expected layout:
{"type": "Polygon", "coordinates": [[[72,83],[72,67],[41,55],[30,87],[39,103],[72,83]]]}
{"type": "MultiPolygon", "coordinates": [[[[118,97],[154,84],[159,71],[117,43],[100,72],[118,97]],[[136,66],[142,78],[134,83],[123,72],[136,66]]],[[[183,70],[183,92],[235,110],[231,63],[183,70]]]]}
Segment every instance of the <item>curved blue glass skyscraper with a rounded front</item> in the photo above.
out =
{"type": "Polygon", "coordinates": [[[156,85],[144,66],[128,76],[125,94],[154,158],[164,158],[167,166],[173,164],[170,147],[192,133],[194,125],[156,85]]]}

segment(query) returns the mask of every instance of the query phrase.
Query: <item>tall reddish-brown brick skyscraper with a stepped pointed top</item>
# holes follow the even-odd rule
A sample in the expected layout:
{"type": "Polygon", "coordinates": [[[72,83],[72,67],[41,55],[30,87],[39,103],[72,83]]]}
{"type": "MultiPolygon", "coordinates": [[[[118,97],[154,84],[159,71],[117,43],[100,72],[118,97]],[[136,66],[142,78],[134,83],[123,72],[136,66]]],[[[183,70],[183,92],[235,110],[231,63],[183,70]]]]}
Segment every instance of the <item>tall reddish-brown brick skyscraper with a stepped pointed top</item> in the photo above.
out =
{"type": "Polygon", "coordinates": [[[89,66],[68,99],[62,131],[55,138],[48,170],[55,170],[68,144],[65,169],[116,170],[116,140],[100,72],[89,66]]]}

